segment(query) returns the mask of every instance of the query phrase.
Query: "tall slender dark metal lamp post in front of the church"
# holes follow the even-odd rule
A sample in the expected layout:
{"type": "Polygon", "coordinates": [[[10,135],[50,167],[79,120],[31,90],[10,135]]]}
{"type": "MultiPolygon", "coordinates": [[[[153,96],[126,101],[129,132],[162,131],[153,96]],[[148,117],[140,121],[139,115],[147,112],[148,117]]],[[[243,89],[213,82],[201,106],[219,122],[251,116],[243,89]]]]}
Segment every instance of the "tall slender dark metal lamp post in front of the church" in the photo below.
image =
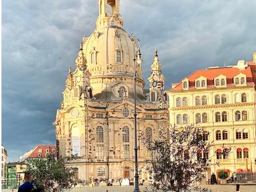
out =
{"type": "Polygon", "coordinates": [[[134,174],[134,192],[139,192],[139,174],[138,174],[138,146],[137,146],[137,112],[136,112],[136,56],[135,56],[135,41],[133,40],[133,80],[134,80],[134,157],[135,157],[135,174],[134,174]]]}

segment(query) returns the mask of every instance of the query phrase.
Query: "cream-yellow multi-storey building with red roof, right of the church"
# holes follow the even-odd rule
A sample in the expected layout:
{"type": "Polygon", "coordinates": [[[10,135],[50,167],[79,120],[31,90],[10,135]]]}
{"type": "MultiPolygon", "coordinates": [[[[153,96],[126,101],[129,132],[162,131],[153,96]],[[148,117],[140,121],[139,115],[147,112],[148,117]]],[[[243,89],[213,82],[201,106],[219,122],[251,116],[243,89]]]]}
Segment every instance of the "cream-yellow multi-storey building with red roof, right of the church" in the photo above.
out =
{"type": "Polygon", "coordinates": [[[246,161],[248,170],[255,171],[255,84],[256,52],[253,61],[196,70],[167,92],[171,125],[195,124],[210,132],[214,147],[209,157],[220,167],[212,165],[208,175],[221,168],[246,171],[246,161]],[[232,148],[228,157],[221,154],[223,143],[232,148]]]}

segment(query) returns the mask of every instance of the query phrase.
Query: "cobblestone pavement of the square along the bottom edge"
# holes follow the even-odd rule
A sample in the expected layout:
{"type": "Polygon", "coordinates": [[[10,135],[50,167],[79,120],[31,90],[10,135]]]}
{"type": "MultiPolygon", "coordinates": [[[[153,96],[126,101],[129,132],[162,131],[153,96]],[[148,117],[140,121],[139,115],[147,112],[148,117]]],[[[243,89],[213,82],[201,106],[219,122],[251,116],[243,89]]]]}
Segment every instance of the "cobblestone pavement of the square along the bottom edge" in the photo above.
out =
{"type": "MultiPolygon", "coordinates": [[[[212,185],[212,186],[204,186],[208,189],[211,189],[212,192],[235,192],[236,185],[212,185]]],[[[73,188],[70,192],[132,192],[134,189],[133,186],[124,186],[124,187],[93,187],[93,188],[85,188],[85,187],[76,187],[73,188]]],[[[12,189],[2,189],[3,192],[12,192],[12,189]]],[[[147,192],[145,186],[140,186],[141,192],[147,192]]],[[[17,192],[17,189],[13,189],[13,192],[17,192]]],[[[241,185],[240,192],[256,192],[256,185],[241,185]]]]}

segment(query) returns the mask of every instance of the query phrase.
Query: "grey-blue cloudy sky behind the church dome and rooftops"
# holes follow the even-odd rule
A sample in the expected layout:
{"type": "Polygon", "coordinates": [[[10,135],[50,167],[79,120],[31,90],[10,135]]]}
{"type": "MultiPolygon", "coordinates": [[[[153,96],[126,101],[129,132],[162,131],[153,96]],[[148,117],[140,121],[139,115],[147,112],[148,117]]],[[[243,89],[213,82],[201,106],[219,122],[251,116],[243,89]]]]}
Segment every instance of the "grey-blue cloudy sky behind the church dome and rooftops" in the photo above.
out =
{"type": "MultiPolygon", "coordinates": [[[[195,70],[252,61],[255,0],[120,0],[124,29],[142,42],[148,86],[158,49],[166,89],[195,70]]],[[[95,29],[96,0],[2,1],[2,144],[8,161],[55,144],[68,66],[95,29]],[[59,60],[59,58],[63,58],[59,60]]]]}

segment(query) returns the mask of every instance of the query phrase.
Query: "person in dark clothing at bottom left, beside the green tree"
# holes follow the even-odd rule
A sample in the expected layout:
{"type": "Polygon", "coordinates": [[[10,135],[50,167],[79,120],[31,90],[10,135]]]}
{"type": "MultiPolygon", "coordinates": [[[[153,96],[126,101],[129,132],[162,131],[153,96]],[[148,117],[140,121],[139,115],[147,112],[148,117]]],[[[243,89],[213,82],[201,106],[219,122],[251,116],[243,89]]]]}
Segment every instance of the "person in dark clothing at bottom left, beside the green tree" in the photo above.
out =
{"type": "Polygon", "coordinates": [[[42,189],[39,188],[33,179],[34,177],[31,172],[25,172],[25,182],[19,187],[18,192],[41,192],[42,189]]]}

